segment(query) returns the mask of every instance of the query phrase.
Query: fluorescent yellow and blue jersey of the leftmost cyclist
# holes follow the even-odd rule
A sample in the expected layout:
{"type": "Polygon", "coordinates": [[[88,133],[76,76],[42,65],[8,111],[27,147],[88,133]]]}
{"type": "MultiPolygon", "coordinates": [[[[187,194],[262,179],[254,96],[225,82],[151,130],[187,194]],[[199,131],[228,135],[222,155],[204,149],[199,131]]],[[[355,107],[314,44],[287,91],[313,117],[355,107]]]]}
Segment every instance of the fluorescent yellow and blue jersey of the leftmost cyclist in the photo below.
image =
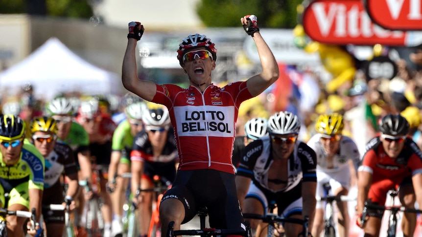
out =
{"type": "MultiPolygon", "coordinates": [[[[13,181],[29,182],[28,189],[44,190],[44,157],[34,145],[26,139],[19,161],[13,166],[6,166],[0,153],[0,178],[13,181]]],[[[13,183],[15,186],[20,183],[13,183]]]]}

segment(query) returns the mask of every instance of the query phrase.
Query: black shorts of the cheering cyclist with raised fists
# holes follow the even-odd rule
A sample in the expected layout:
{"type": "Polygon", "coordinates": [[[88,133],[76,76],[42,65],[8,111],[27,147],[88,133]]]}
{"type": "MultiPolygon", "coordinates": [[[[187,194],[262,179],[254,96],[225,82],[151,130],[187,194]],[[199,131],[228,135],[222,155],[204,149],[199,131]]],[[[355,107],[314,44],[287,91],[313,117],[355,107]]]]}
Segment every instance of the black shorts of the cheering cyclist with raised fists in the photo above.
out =
{"type": "Polygon", "coordinates": [[[161,201],[168,198],[177,198],[185,205],[182,224],[191,220],[200,207],[207,207],[211,228],[241,230],[243,217],[234,174],[211,169],[178,171],[173,187],[161,201]]]}

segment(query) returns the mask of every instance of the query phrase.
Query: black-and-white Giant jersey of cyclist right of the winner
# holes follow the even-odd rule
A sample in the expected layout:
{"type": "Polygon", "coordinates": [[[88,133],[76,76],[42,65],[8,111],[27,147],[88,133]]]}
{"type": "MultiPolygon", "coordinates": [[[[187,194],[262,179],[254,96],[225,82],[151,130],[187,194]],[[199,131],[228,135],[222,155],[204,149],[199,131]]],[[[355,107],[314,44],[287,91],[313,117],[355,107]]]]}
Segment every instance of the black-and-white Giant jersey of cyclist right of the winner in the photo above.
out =
{"type": "Polygon", "coordinates": [[[271,190],[268,187],[268,171],[274,162],[270,136],[253,141],[243,151],[236,175],[249,177],[254,184],[271,192],[288,192],[300,185],[302,181],[316,182],[316,155],[306,143],[297,141],[295,150],[288,161],[288,180],[282,190],[271,190]]]}

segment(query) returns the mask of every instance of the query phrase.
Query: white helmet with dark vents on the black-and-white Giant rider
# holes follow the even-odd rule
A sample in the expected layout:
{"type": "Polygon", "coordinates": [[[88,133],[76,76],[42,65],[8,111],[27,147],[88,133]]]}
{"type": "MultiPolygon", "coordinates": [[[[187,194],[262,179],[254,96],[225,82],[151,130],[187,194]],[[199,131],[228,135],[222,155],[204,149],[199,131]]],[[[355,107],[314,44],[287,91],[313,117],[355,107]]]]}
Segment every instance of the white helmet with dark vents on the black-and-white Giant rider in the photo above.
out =
{"type": "Polygon", "coordinates": [[[299,133],[301,123],[294,113],[281,111],[268,119],[268,132],[271,134],[299,133]]]}

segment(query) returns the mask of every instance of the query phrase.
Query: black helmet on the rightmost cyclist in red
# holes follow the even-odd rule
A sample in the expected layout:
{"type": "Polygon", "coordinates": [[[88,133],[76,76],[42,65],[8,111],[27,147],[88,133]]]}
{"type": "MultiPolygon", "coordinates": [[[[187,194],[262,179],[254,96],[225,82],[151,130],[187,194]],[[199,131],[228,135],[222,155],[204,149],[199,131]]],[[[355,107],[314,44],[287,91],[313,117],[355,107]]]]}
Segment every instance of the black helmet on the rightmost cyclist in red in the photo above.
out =
{"type": "Polygon", "coordinates": [[[387,114],[379,121],[378,126],[386,135],[404,136],[409,132],[409,123],[399,114],[387,114]]]}

